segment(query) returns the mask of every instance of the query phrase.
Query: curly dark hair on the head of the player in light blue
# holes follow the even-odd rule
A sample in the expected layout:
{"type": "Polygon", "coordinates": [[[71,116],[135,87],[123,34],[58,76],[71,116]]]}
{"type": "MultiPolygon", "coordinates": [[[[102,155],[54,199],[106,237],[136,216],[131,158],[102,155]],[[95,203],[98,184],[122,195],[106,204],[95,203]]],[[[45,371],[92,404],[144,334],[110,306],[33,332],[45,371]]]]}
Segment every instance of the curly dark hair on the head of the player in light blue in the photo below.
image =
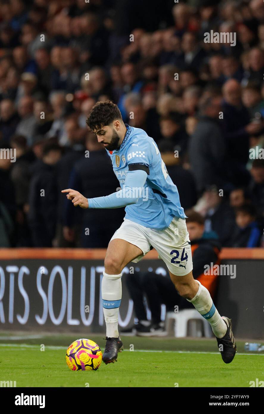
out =
{"type": "Polygon", "coordinates": [[[114,120],[121,119],[122,115],[119,108],[112,101],[97,102],[92,108],[86,119],[89,130],[96,132],[106,125],[110,125],[114,120]]]}

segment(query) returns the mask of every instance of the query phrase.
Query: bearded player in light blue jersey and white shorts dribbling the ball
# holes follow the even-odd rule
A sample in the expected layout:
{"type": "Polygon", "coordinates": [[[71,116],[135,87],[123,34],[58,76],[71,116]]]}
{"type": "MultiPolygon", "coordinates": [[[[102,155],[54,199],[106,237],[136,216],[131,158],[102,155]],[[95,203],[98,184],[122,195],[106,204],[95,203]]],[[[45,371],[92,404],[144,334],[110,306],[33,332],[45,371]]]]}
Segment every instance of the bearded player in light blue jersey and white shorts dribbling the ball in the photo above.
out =
{"type": "MultiPolygon", "coordinates": [[[[223,361],[230,363],[236,352],[230,319],[219,315],[209,291],[192,276],[186,216],[156,142],[144,130],[124,124],[118,106],[111,101],[97,102],[86,123],[106,148],[121,190],[89,199],[70,188],[62,193],[67,193],[74,206],[82,208],[126,206],[124,221],[109,242],[104,262],[101,290],[106,347],[103,361],[106,364],[117,361],[118,352],[123,349],[118,333],[122,270],[155,248],[180,296],[208,320],[223,361]]],[[[107,221],[102,225],[107,226],[107,221]]]]}

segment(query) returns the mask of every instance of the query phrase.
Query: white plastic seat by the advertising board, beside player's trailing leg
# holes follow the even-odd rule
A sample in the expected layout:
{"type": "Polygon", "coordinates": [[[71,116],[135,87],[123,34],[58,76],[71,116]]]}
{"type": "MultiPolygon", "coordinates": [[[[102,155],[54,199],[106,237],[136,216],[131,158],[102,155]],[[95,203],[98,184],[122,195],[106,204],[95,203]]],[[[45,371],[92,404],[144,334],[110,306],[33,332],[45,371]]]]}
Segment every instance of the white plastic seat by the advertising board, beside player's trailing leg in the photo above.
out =
{"type": "Polygon", "coordinates": [[[203,336],[203,332],[201,330],[201,323],[204,330],[204,337],[210,338],[212,336],[212,329],[210,324],[207,322],[206,319],[202,317],[202,315],[197,312],[196,309],[184,309],[180,310],[180,312],[167,312],[166,314],[166,331],[168,334],[172,334],[171,325],[174,321],[174,336],[176,338],[184,338],[187,337],[187,328],[188,328],[188,321],[191,335],[192,337],[199,337],[203,336]]]}

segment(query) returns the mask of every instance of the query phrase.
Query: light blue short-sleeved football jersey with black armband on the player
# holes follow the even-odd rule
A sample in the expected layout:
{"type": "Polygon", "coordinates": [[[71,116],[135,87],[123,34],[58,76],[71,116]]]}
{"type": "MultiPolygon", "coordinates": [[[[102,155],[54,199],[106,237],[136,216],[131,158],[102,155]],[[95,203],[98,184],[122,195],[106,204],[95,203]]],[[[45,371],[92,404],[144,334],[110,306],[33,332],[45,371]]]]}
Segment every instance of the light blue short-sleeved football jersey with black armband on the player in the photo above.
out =
{"type": "Polygon", "coordinates": [[[125,218],[151,229],[166,229],[174,217],[184,219],[176,185],[171,180],[153,138],[140,128],[127,127],[120,147],[107,151],[120,187],[123,188],[131,164],[144,164],[149,174],[136,204],[125,207],[125,218]]]}

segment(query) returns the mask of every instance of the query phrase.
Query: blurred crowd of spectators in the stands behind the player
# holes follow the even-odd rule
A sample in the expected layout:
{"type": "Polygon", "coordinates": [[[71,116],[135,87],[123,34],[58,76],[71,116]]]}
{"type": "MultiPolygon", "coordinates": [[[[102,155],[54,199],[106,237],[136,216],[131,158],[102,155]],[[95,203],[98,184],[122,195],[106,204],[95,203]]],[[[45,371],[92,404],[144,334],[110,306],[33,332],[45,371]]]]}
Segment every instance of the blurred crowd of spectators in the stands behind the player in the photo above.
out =
{"type": "Polygon", "coordinates": [[[181,204],[221,246],[263,246],[263,0],[1,0],[1,247],[107,247],[119,183],[86,128],[97,101],[158,143],[181,204]],[[230,43],[204,43],[210,31],[230,43]],[[2,154],[2,153],[1,153],[2,154]]]}

